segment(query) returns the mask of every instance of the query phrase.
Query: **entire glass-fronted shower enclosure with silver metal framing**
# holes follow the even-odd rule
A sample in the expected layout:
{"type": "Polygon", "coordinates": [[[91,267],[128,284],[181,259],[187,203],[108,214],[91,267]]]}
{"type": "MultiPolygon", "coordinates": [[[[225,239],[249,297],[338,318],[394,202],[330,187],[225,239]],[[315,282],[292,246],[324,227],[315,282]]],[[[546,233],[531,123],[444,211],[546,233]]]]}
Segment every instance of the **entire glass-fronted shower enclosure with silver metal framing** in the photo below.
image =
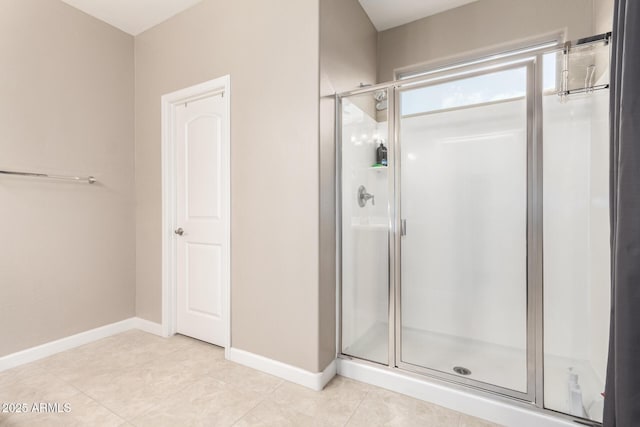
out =
{"type": "Polygon", "coordinates": [[[343,356],[601,420],[607,45],[338,96],[343,356]]]}

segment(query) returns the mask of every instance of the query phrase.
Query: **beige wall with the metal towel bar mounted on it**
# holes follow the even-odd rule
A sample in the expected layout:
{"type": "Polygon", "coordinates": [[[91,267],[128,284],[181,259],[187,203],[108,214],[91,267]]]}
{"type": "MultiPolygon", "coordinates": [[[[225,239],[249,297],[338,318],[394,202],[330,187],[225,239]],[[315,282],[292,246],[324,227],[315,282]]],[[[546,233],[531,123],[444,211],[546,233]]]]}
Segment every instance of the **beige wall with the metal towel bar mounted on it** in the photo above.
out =
{"type": "Polygon", "coordinates": [[[133,38],[0,1],[0,356],[135,314],[133,38]]]}

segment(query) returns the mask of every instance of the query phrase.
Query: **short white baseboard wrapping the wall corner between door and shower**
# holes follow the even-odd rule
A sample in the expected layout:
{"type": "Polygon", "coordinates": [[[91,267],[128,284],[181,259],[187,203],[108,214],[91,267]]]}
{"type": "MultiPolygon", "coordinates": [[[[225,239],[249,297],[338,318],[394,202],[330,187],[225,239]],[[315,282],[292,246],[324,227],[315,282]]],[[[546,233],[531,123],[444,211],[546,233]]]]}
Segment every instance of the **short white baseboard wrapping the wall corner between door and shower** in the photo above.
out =
{"type": "Polygon", "coordinates": [[[230,348],[227,358],[232,362],[257,369],[267,374],[280,377],[292,383],[300,384],[312,390],[322,390],[325,385],[336,375],[335,360],[327,368],[318,373],[313,373],[298,367],[278,362],[264,356],[259,356],[248,351],[230,348]]]}

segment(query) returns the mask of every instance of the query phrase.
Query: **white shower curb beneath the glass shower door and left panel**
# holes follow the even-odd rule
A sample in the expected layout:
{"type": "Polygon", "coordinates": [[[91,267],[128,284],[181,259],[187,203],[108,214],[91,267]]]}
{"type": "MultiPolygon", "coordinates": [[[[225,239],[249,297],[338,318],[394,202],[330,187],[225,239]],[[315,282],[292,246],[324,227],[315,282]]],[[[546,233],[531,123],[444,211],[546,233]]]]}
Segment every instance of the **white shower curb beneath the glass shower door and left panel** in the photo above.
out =
{"type": "Polygon", "coordinates": [[[576,426],[575,423],[564,418],[420,380],[389,369],[346,359],[338,359],[337,365],[338,374],[344,377],[425,400],[506,427],[576,426]]]}

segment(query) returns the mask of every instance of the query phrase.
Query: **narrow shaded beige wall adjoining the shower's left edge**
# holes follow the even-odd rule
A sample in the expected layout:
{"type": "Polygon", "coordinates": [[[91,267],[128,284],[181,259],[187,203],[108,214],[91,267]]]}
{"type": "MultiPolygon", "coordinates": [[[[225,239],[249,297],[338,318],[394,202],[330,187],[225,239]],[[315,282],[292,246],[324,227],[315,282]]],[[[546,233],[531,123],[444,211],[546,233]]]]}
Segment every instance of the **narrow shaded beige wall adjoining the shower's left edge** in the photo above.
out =
{"type": "Polygon", "coordinates": [[[335,93],[375,83],[377,32],[357,0],[320,0],[320,363],[336,354],[335,93]]]}

